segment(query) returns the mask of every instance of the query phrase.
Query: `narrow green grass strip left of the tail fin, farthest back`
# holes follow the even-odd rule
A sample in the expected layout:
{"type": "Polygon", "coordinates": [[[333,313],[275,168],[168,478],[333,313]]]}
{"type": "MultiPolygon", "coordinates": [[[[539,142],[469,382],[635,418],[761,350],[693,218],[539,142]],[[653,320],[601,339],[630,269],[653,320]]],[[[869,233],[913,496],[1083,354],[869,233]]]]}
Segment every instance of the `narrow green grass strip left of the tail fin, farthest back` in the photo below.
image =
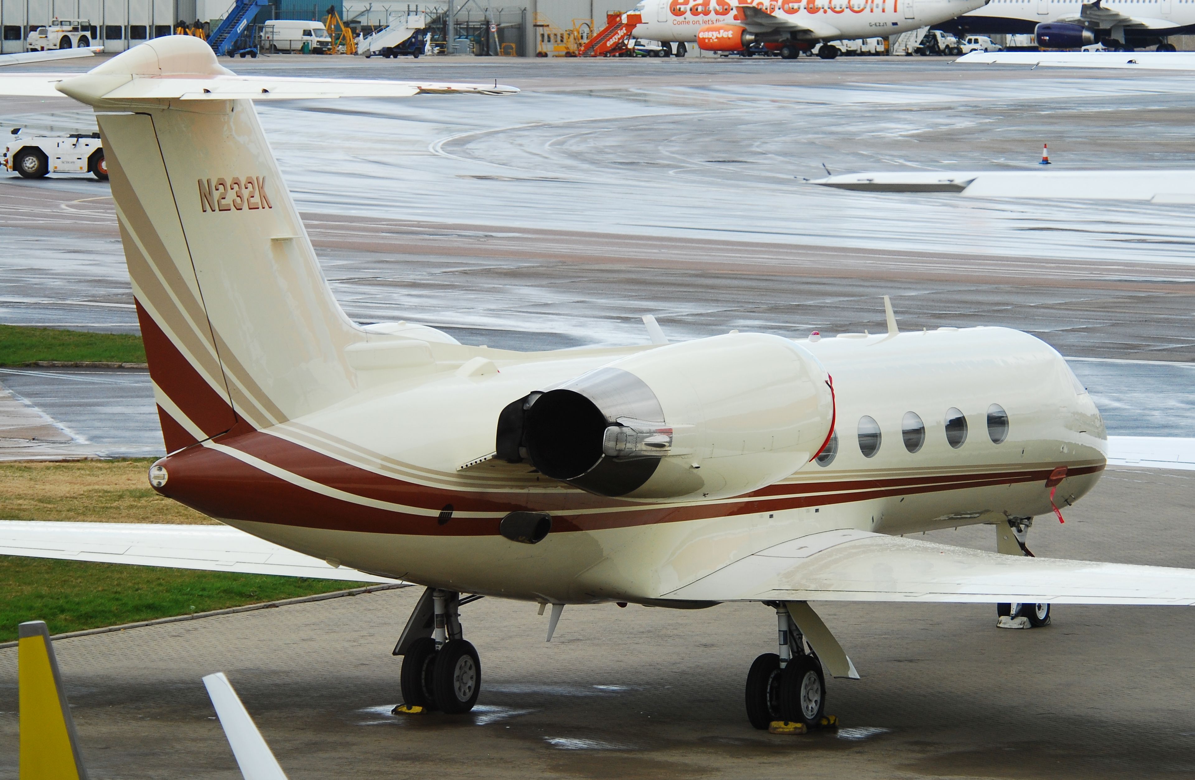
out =
{"type": "Polygon", "coordinates": [[[146,349],[140,336],[129,333],[0,325],[0,366],[27,366],[37,361],[145,363],[146,349]]]}

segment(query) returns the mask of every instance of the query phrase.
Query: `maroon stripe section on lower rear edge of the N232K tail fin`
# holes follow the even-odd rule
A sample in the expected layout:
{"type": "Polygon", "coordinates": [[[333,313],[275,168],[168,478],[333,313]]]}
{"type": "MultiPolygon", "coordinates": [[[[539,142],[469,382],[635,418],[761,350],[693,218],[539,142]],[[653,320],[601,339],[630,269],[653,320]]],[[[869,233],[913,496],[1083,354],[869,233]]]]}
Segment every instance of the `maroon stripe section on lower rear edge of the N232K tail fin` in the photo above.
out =
{"type": "MultiPolygon", "coordinates": [[[[207,436],[215,436],[232,428],[237,418],[228,399],[213,389],[190,361],[183,357],[170,337],[141,307],[141,302],[134,299],[134,303],[137,308],[137,323],[141,325],[141,340],[146,346],[146,360],[149,363],[149,379],[207,436]]],[[[190,434],[184,440],[176,435],[177,430],[167,430],[165,424],[161,430],[166,437],[166,452],[195,443],[195,437],[190,434]]]]}

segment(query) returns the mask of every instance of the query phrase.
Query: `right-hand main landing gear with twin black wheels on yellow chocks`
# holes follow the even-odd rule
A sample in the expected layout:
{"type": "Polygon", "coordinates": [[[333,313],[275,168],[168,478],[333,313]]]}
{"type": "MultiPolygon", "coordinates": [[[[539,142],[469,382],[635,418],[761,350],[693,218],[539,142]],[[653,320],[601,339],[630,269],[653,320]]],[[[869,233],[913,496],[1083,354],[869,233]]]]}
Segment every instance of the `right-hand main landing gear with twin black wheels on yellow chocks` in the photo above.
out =
{"type": "Polygon", "coordinates": [[[832,726],[826,715],[826,675],[821,662],[789,615],[783,603],[776,608],[779,652],[766,652],[747,672],[747,718],[756,729],[773,732],[804,732],[832,726]]]}

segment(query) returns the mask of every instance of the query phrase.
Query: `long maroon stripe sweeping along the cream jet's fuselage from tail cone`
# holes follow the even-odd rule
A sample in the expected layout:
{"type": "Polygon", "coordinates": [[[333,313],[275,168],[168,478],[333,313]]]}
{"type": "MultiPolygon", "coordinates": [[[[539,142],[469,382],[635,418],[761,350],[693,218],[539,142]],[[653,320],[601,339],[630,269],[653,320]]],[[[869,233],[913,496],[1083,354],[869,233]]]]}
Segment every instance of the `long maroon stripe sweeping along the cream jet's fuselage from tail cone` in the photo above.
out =
{"type": "MultiPolygon", "coordinates": [[[[615,506],[625,508],[627,504],[580,491],[545,495],[511,490],[478,495],[415,485],[350,466],[293,442],[259,432],[239,436],[225,443],[228,446],[235,443],[237,449],[246,454],[253,454],[290,473],[355,496],[436,512],[447,504],[452,504],[458,512],[507,512],[521,509],[549,511],[553,517],[553,530],[623,528],[774,512],[803,506],[826,506],[891,496],[1044,481],[1050,471],[1034,469],[923,478],[920,484],[913,484],[912,480],[790,484],[786,485],[789,492],[783,496],[749,495],[734,502],[692,503],[681,506],[638,504],[623,511],[577,514],[577,510],[583,508],[613,509],[615,506]],[[252,441],[246,441],[251,438],[252,441]],[[262,441],[263,438],[274,441],[262,441]]],[[[172,455],[165,465],[170,477],[166,486],[161,490],[164,495],[222,520],[391,534],[492,535],[497,533],[498,521],[496,518],[456,517],[440,526],[435,515],[417,515],[364,506],[350,499],[324,496],[261,471],[232,455],[206,447],[172,455]]],[[[1102,466],[1076,468],[1071,471],[1071,474],[1087,474],[1102,468],[1102,466]]]]}

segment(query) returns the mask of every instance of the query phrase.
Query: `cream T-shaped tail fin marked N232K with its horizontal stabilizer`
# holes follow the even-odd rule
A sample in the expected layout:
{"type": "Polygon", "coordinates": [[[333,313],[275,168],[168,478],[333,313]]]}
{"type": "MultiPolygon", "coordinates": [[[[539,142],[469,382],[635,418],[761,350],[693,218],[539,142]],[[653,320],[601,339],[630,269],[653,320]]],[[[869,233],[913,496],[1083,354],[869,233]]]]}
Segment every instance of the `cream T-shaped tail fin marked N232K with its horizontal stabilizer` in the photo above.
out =
{"type": "Polygon", "coordinates": [[[170,452],[324,409],[358,387],[350,346],[410,340],[362,331],[336,302],[251,99],[511,91],[239,76],[191,36],[54,88],[97,109],[170,452]]]}

